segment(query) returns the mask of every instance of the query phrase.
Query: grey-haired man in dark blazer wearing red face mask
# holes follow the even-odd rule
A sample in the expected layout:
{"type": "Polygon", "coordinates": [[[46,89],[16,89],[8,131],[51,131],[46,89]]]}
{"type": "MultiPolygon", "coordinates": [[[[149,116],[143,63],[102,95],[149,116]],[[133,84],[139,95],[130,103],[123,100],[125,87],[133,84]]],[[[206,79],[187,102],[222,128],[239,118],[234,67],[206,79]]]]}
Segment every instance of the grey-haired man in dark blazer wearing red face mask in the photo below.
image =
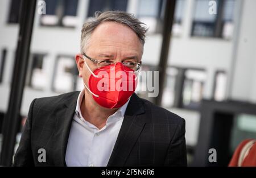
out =
{"type": "Polygon", "coordinates": [[[32,101],[14,165],[187,165],[184,119],[134,93],[146,31],[121,11],[84,24],[85,89],[32,101]]]}

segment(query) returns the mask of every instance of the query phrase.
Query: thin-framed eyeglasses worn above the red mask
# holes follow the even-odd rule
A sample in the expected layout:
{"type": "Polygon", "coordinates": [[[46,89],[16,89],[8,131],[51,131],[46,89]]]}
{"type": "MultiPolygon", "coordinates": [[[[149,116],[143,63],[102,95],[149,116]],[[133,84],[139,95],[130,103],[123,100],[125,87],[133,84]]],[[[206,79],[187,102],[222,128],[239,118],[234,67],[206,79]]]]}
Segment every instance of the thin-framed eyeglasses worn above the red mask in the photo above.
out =
{"type": "MultiPolygon", "coordinates": [[[[111,60],[111,59],[104,59],[104,60],[92,59],[92,57],[87,56],[84,52],[82,53],[82,55],[88,58],[89,60],[93,61],[93,63],[97,64],[98,69],[100,69],[101,67],[106,67],[108,65],[112,65],[116,63],[114,60],[111,60]]],[[[134,61],[130,61],[130,60],[122,61],[122,64],[125,67],[132,69],[134,72],[138,72],[139,69],[141,68],[141,63],[135,63],[134,61]]]]}

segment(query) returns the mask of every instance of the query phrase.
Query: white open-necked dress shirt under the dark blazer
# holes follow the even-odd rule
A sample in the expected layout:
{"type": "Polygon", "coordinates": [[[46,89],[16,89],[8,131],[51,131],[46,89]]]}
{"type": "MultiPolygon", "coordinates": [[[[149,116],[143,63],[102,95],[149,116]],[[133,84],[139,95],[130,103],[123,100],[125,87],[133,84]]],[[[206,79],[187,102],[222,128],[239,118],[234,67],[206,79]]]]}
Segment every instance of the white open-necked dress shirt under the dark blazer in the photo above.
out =
{"type": "Polygon", "coordinates": [[[98,129],[82,117],[80,109],[82,97],[84,97],[84,90],[77,98],[65,161],[67,166],[105,167],[112,154],[129,101],[108,117],[102,129],[98,129]]]}

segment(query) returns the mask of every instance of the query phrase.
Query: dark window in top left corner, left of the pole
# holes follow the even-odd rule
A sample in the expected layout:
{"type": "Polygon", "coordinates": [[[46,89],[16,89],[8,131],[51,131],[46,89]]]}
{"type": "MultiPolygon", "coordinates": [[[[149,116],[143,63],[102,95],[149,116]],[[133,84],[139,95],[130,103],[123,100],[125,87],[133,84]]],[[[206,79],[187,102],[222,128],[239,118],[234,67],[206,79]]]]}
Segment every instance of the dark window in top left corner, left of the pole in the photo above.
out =
{"type": "Polygon", "coordinates": [[[9,16],[7,19],[8,23],[18,23],[19,22],[19,7],[20,0],[11,0],[9,8],[9,16]]]}

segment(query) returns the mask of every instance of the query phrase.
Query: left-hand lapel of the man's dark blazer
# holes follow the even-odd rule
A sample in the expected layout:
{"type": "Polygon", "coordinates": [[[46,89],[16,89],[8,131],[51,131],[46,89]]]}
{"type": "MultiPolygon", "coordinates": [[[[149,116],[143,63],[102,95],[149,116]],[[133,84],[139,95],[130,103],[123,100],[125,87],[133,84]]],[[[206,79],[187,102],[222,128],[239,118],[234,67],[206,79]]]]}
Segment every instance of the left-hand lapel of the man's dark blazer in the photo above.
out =
{"type": "Polygon", "coordinates": [[[65,154],[78,96],[79,92],[76,92],[71,98],[67,98],[67,101],[64,103],[64,109],[62,109],[59,114],[56,115],[56,158],[54,160],[55,165],[57,166],[67,166],[65,162],[65,154]]]}

